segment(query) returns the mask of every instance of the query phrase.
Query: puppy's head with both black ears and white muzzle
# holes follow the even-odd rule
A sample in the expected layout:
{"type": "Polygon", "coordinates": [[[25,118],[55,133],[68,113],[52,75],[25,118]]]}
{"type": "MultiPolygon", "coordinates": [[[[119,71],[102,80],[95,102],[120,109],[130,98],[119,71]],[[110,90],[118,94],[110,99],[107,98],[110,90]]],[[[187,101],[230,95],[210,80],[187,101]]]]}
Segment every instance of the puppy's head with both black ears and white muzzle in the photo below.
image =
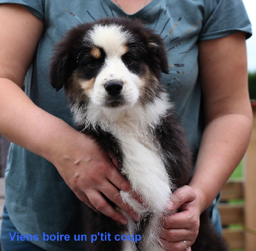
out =
{"type": "Polygon", "coordinates": [[[168,72],[160,36],[138,20],[102,19],[65,35],[52,57],[51,84],[70,102],[115,109],[154,102],[168,72]]]}

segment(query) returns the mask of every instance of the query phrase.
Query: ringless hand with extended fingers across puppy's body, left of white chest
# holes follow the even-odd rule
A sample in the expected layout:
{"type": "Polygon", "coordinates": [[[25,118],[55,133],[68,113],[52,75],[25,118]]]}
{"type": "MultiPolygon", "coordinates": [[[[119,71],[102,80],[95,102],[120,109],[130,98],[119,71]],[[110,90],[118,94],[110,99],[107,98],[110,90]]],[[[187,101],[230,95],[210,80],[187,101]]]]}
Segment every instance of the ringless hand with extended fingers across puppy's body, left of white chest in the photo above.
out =
{"type": "Polygon", "coordinates": [[[111,160],[91,137],[83,133],[74,132],[70,138],[68,150],[66,146],[57,151],[56,147],[53,149],[56,156],[52,164],[76,196],[94,211],[100,211],[120,224],[127,224],[127,218],[106,201],[107,197],[138,220],[136,213],[120,197],[120,190],[130,192],[131,185],[118,171],[117,160],[111,160]]]}

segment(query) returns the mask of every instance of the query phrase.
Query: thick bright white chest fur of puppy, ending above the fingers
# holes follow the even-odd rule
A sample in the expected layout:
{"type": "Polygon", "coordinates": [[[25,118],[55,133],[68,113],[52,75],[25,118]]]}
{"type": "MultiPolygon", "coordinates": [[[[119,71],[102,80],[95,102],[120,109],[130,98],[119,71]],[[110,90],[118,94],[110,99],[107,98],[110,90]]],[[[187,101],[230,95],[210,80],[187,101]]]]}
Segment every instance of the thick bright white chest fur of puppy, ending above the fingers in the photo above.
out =
{"type": "Polygon", "coordinates": [[[148,204],[149,211],[163,212],[171,191],[168,174],[151,135],[145,131],[137,137],[129,132],[117,132],[115,136],[123,152],[122,173],[148,204]]]}

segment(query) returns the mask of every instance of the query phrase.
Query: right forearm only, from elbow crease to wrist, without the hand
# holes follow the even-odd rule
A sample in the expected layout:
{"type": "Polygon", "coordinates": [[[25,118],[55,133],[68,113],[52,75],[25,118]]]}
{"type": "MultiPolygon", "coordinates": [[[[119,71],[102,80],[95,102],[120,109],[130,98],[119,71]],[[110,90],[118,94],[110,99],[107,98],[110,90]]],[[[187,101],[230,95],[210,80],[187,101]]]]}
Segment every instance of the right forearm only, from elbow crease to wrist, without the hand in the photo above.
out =
{"type": "Polygon", "coordinates": [[[243,114],[220,116],[205,128],[189,184],[200,195],[201,212],[211,205],[243,158],[251,130],[252,117],[243,114]]]}

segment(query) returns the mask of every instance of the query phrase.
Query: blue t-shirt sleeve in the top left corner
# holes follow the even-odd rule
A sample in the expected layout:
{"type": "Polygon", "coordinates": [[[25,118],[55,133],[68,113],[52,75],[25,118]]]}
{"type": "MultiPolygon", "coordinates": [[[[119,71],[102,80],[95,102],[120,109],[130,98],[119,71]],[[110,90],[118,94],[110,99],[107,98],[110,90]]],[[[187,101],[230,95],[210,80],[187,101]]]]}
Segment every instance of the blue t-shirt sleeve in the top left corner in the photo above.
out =
{"type": "Polygon", "coordinates": [[[39,19],[44,20],[45,18],[42,0],[0,0],[0,4],[3,3],[21,4],[39,19]]]}

